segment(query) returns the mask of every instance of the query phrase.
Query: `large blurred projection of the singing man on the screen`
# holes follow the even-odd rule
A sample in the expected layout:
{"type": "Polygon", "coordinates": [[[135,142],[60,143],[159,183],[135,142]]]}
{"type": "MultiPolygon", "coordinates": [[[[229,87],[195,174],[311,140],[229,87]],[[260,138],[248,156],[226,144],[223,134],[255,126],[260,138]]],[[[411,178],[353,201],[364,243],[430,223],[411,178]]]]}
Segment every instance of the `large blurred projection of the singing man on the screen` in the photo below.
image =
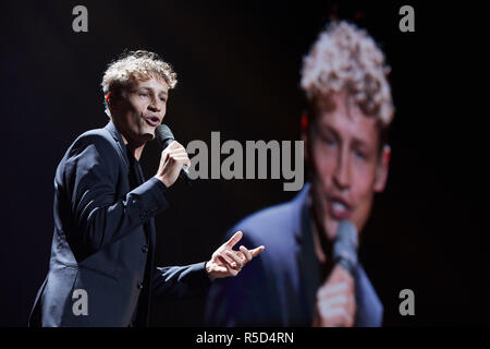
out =
{"type": "Polygon", "coordinates": [[[226,326],[380,326],[382,304],[364,268],[336,263],[344,221],[362,231],[387,182],[394,108],[384,55],[355,25],[333,23],[305,57],[301,86],[310,184],[291,202],[238,222],[268,253],[211,286],[207,323],[226,326]],[[250,282],[254,280],[254,282],[250,282]]]}

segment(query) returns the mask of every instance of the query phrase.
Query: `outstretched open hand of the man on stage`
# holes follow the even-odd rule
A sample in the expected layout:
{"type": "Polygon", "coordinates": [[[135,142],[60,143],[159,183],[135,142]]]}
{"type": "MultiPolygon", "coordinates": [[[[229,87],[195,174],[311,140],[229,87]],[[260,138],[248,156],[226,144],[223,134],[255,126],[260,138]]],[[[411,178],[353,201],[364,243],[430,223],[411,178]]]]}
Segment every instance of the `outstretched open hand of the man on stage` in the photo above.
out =
{"type": "Polygon", "coordinates": [[[242,239],[242,231],[236,231],[230,240],[223,243],[211,256],[211,261],[206,263],[206,272],[211,281],[216,278],[236,276],[238,272],[264,251],[264,246],[247,250],[240,246],[240,251],[232,250],[242,239]]]}

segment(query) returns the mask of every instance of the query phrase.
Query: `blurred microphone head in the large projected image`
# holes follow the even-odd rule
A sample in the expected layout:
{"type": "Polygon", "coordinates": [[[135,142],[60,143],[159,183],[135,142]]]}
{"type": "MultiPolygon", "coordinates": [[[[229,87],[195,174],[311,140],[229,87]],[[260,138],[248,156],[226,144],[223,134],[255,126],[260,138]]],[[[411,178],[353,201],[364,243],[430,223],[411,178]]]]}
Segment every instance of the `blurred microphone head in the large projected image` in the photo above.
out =
{"type": "Polygon", "coordinates": [[[342,220],[333,243],[333,262],[342,265],[352,276],[357,267],[357,229],[348,220],[342,220]]]}

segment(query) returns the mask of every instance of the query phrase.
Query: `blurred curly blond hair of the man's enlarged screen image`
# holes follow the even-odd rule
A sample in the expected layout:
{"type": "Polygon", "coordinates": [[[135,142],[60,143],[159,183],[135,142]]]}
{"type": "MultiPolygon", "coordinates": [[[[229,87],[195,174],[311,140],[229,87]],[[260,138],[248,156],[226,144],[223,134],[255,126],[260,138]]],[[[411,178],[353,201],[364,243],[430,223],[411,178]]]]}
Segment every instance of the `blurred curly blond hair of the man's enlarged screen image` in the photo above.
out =
{"type": "Polygon", "coordinates": [[[389,72],[383,52],[366,31],[334,22],[303,59],[301,87],[310,101],[346,89],[367,116],[388,127],[394,115],[389,72]]]}

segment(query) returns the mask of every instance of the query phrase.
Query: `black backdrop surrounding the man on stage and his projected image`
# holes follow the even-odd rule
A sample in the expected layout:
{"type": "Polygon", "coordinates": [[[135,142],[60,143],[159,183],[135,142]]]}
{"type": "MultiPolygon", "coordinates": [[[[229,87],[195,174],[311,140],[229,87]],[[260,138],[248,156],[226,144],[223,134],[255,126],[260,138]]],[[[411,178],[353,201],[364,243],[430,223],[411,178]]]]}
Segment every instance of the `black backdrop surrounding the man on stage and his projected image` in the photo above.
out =
{"type": "MultiPolygon", "coordinates": [[[[187,144],[299,140],[302,57],[331,15],[368,29],[392,67],[396,115],[385,192],[362,237],[360,260],[384,325],[489,324],[489,227],[481,9],[414,1],[10,1],[1,4],[0,325],[25,326],[48,269],[52,181],[74,139],[103,127],[100,81],[123,49],[159,52],[179,74],[166,123],[187,144]],[[88,33],[72,9],[88,9],[88,33]],[[399,9],[415,9],[415,33],[399,9]],[[399,292],[415,292],[415,316],[399,292]]],[[[488,91],[488,88],[487,88],[488,91]]],[[[488,98],[488,97],[487,97],[488,98]]],[[[142,157],[146,177],[158,148],[142,157]]],[[[282,180],[175,185],[157,217],[158,265],[210,257],[237,220],[292,198],[282,180]]],[[[201,325],[203,301],[157,302],[155,326],[201,325]]]]}

